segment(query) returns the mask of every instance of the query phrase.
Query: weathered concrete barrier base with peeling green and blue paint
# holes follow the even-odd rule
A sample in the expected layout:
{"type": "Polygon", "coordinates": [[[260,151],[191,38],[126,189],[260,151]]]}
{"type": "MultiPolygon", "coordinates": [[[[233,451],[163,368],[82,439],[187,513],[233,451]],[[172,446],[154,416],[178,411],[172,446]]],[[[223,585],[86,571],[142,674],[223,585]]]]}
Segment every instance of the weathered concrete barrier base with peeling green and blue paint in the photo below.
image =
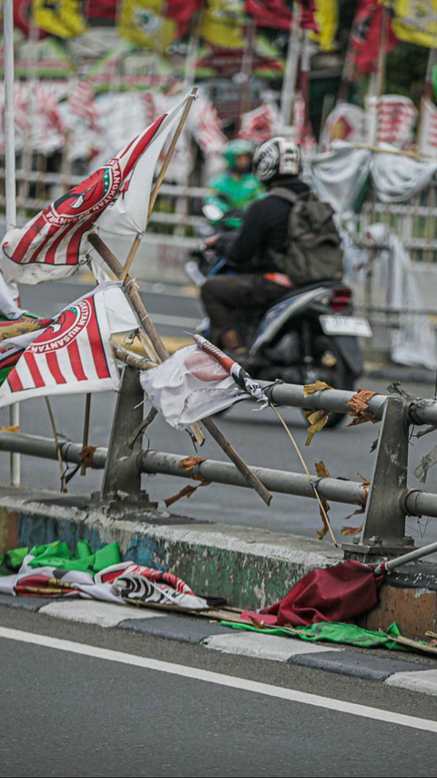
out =
{"type": "Polygon", "coordinates": [[[310,570],[342,559],[340,549],[297,535],[201,523],[122,503],[110,508],[85,497],[2,488],[0,553],[54,540],[73,546],[83,538],[96,549],[117,542],[124,559],[170,570],[199,595],[251,609],[275,602],[310,570]]]}

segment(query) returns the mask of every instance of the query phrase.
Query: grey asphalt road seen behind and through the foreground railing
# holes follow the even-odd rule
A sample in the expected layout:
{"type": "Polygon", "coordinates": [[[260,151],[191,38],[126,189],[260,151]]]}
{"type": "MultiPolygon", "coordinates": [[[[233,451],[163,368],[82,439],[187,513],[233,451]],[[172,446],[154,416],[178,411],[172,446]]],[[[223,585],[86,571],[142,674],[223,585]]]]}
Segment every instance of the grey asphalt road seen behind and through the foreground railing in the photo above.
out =
{"type": "MultiPolygon", "coordinates": [[[[23,286],[23,304],[36,313],[50,316],[56,314],[62,307],[83,295],[86,285],[76,283],[48,283],[38,286],[23,286]]],[[[183,294],[181,290],[170,287],[147,287],[143,294],[149,312],[157,322],[158,330],[163,336],[184,337],[186,331],[192,331],[196,321],[201,317],[198,300],[193,296],[183,294]],[[163,322],[169,322],[164,324],[163,322]]],[[[365,389],[384,391],[386,381],[377,379],[364,379],[361,385],[365,389]]],[[[405,385],[409,389],[408,384],[405,385]]],[[[429,385],[412,384],[410,389],[422,397],[430,397],[432,388],[429,385]]],[[[66,396],[65,398],[53,398],[51,400],[55,410],[56,425],[60,432],[72,441],[80,441],[82,437],[82,424],[85,398],[80,395],[66,396]]],[[[111,429],[111,420],[115,402],[113,393],[95,395],[91,410],[90,442],[95,445],[107,445],[111,429]]],[[[21,406],[22,429],[25,432],[51,436],[51,429],[43,399],[28,400],[21,406]]],[[[315,436],[309,448],[305,448],[306,440],[305,421],[299,410],[285,409],[285,418],[290,422],[293,431],[300,444],[310,470],[314,470],[314,462],[323,460],[330,473],[334,477],[346,477],[358,480],[357,473],[365,477],[371,477],[374,454],[370,453],[371,443],[378,435],[378,427],[371,424],[363,424],[358,427],[346,429],[345,426],[337,430],[323,430],[315,436]]],[[[0,411],[0,425],[8,423],[8,410],[0,411]]],[[[230,410],[229,415],[219,420],[219,427],[228,436],[229,441],[236,447],[239,453],[252,465],[279,468],[295,472],[302,472],[298,457],[293,450],[285,430],[279,425],[279,421],[271,410],[259,413],[239,404],[230,410]]],[[[148,440],[145,438],[144,446],[149,445],[158,451],[173,451],[181,454],[194,453],[192,443],[188,435],[168,427],[158,418],[149,427],[148,440]]],[[[435,445],[432,435],[422,438],[420,441],[412,441],[411,446],[411,485],[420,486],[413,475],[413,470],[422,456],[435,445]]],[[[224,459],[222,452],[213,441],[207,441],[203,447],[202,456],[214,459],[224,459]]],[[[9,457],[0,455],[0,482],[8,482],[9,457]]],[[[45,462],[35,458],[23,457],[23,485],[32,488],[59,489],[59,472],[56,462],[45,462]]],[[[96,491],[101,480],[101,472],[88,471],[86,478],[76,475],[70,483],[71,493],[90,493],[96,491]]],[[[160,501],[174,493],[187,482],[182,479],[166,476],[144,476],[144,488],[154,500],[160,501]]],[[[437,468],[431,471],[426,488],[437,491],[437,468]]],[[[198,490],[189,500],[176,503],[171,509],[174,513],[192,516],[211,522],[225,521],[229,524],[243,524],[247,526],[263,527],[271,531],[299,533],[312,536],[320,528],[320,516],[316,501],[275,494],[270,505],[266,508],[255,493],[238,487],[225,487],[211,484],[207,488],[198,490]]],[[[351,513],[349,506],[332,504],[331,521],[337,534],[340,535],[340,527],[345,524],[344,517],[351,513]]],[[[358,525],[360,516],[354,516],[347,524],[358,525]]],[[[424,544],[437,539],[437,522],[410,519],[408,522],[410,533],[416,538],[418,544],[424,544]],[[424,538],[422,539],[422,535],[424,538]]],[[[325,539],[326,543],[330,540],[325,539]]]]}

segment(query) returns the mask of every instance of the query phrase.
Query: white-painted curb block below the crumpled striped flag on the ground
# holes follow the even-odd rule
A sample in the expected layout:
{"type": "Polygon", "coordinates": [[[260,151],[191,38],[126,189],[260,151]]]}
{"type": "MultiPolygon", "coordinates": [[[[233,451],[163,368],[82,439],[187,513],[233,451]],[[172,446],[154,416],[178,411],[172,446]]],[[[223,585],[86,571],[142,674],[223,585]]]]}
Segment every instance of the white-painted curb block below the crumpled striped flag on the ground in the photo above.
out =
{"type": "Polygon", "coordinates": [[[128,607],[93,600],[59,600],[48,603],[39,609],[39,613],[66,621],[80,621],[83,624],[96,624],[97,627],[117,627],[121,621],[131,618],[159,618],[165,613],[147,610],[145,607],[128,607]]]}

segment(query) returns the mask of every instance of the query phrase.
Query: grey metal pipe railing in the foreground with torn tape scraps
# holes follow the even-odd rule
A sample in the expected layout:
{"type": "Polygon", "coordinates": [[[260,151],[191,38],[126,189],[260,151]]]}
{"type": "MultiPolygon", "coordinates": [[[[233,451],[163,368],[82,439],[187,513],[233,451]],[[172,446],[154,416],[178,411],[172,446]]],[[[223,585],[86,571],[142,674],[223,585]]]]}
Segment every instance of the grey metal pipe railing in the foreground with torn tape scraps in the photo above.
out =
{"type": "MultiPolygon", "coordinates": [[[[264,486],[271,492],[317,498],[319,502],[323,501],[325,507],[326,501],[355,506],[355,513],[363,513],[364,520],[361,534],[355,535],[352,541],[349,538],[342,545],[348,554],[375,558],[401,555],[412,548],[413,539],[405,534],[406,517],[437,518],[437,494],[408,486],[410,438],[416,426],[426,425],[427,428],[419,431],[418,435],[437,428],[437,401],[412,397],[399,385],[393,385],[389,396],[365,390],[355,393],[341,391],[325,388],[323,384],[320,389],[313,387],[310,394],[308,388],[293,384],[268,385],[261,382],[261,386],[264,389],[269,387],[269,399],[275,406],[321,411],[321,417],[328,412],[348,413],[351,415],[351,426],[379,422],[376,459],[370,482],[331,478],[326,469],[309,478],[301,472],[252,468],[264,486]]],[[[150,506],[148,494],[141,491],[142,473],[161,473],[194,480],[195,485],[185,487],[176,495],[177,498],[189,496],[198,485],[209,482],[249,487],[231,462],[143,450],[142,436],[147,426],[147,420],[143,420],[143,399],[138,368],[126,366],[117,395],[108,448],[84,447],[78,442],[0,431],[0,451],[48,460],[62,458],[66,465],[76,464],[78,468],[85,463],[88,467],[103,470],[98,499],[109,505],[119,506],[121,502],[136,504],[137,507],[150,506]]],[[[317,434],[322,435],[323,431],[317,434]]],[[[418,469],[421,472],[416,471],[422,481],[427,469],[437,461],[437,453],[433,459],[434,453],[432,451],[423,459],[418,469]]],[[[170,500],[168,504],[172,502],[170,500]]]]}

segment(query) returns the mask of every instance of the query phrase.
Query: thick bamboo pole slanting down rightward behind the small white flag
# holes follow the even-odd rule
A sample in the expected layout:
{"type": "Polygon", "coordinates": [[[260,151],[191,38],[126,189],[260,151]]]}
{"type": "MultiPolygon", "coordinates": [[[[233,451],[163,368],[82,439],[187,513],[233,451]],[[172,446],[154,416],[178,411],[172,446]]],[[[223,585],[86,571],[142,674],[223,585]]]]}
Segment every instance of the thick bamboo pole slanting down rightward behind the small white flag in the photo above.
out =
{"type": "MultiPolygon", "coordinates": [[[[118,262],[117,256],[112,254],[110,249],[107,247],[107,244],[105,244],[96,233],[90,234],[88,241],[96,249],[98,254],[103,257],[114,275],[116,275],[117,278],[121,278],[123,265],[118,262]]],[[[141,326],[144,328],[147,336],[150,338],[152,346],[155,348],[158,357],[162,361],[165,361],[169,357],[168,350],[162,342],[161,337],[159,337],[158,331],[156,330],[155,325],[147,313],[146,306],[139,296],[137,286],[133,283],[133,279],[131,279],[129,276],[127,276],[126,281],[126,293],[127,296],[129,296],[132,306],[137,312],[141,326]]],[[[235,449],[230,445],[229,441],[227,441],[223,433],[220,432],[215,422],[212,419],[204,419],[202,420],[202,424],[205,429],[208,430],[210,436],[218,443],[221,450],[226,453],[226,455],[229,457],[229,460],[235,464],[239,472],[244,476],[252,489],[254,489],[255,492],[259,494],[261,500],[269,505],[271,500],[271,494],[269,493],[269,490],[266,489],[264,484],[259,480],[259,477],[250,470],[246,462],[241,459],[239,453],[237,453],[237,451],[235,451],[235,449]]],[[[193,426],[196,427],[198,425],[192,425],[192,427],[193,426]]]]}

